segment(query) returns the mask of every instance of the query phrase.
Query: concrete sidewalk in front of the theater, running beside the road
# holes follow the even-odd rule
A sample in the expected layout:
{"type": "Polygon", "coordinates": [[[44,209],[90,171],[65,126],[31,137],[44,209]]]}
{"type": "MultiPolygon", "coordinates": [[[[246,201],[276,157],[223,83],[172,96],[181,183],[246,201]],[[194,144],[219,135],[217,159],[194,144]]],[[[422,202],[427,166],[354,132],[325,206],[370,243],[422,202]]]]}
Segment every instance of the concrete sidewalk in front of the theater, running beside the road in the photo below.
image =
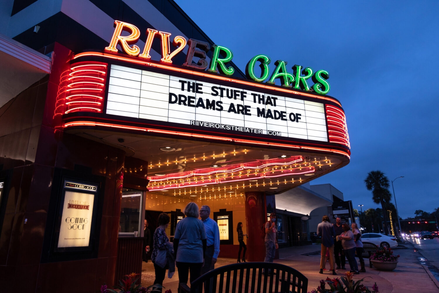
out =
{"type": "MultiPolygon", "coordinates": [[[[406,246],[407,249],[395,249],[395,254],[400,255],[398,266],[395,270],[378,271],[375,268],[369,268],[369,260],[365,260],[366,273],[356,275],[354,280],[365,278],[363,283],[368,287],[371,287],[376,282],[380,293],[438,293],[439,282],[427,267],[417,262],[417,257],[420,256],[420,254],[414,251],[411,244],[407,244],[406,246]]],[[[306,255],[316,251],[320,251],[320,244],[282,248],[279,250],[280,258],[274,260],[274,262],[291,266],[305,275],[308,278],[309,292],[317,288],[317,286],[320,286],[320,280],[326,279],[327,277],[331,279],[333,277],[340,278],[344,276],[345,272],[338,270],[337,276],[333,276],[329,271],[325,271],[323,275],[319,274],[320,257],[306,255]]],[[[234,263],[236,263],[235,259],[220,257],[215,267],[218,268],[219,266],[234,263]]],[[[346,267],[349,269],[349,264],[346,263],[346,267]]],[[[327,268],[329,268],[329,263],[327,264],[327,268]]],[[[151,286],[154,279],[154,266],[150,260],[148,263],[143,263],[141,284],[145,287],[151,286]]],[[[167,289],[171,289],[173,293],[176,293],[178,287],[178,272],[175,272],[172,279],[168,279],[166,275],[163,286],[166,288],[163,292],[167,289]]]]}

